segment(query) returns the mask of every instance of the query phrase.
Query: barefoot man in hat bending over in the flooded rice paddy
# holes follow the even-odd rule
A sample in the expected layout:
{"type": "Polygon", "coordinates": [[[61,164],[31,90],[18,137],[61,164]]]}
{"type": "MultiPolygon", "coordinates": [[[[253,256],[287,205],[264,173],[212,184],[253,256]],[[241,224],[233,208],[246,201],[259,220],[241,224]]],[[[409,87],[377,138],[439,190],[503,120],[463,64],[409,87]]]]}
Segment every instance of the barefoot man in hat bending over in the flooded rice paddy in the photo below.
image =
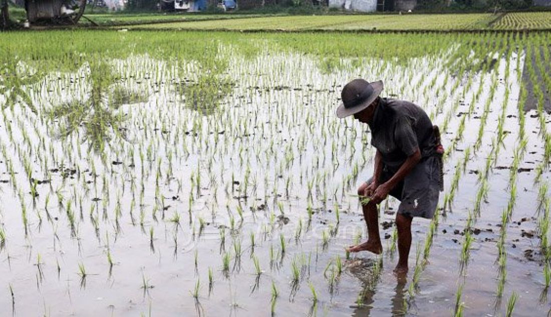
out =
{"type": "Polygon", "coordinates": [[[438,128],[422,108],[408,101],[381,98],[382,89],[382,81],[354,79],[344,86],[337,108],[337,117],[354,115],[369,125],[371,145],[377,149],[374,174],[358,188],[368,241],[347,250],[382,252],[377,205],[390,194],[401,201],[396,213],[399,258],[394,271],[407,274],[412,218],[430,219],[434,215],[442,190],[443,149],[438,128]]]}

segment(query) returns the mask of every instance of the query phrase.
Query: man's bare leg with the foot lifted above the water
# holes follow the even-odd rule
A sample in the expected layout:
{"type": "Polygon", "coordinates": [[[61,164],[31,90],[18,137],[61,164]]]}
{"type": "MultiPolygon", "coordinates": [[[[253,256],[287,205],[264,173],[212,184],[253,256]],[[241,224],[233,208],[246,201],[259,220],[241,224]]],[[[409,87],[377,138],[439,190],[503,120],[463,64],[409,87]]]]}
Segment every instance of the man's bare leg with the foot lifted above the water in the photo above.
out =
{"type": "MultiPolygon", "coordinates": [[[[358,195],[365,195],[367,183],[363,183],[358,188],[358,195]]],[[[360,198],[361,199],[361,198],[360,198]]],[[[369,251],[375,254],[382,253],[381,237],[379,236],[379,212],[374,203],[362,204],[361,209],[364,212],[365,223],[368,226],[368,241],[348,247],[348,252],[369,251]]]]}

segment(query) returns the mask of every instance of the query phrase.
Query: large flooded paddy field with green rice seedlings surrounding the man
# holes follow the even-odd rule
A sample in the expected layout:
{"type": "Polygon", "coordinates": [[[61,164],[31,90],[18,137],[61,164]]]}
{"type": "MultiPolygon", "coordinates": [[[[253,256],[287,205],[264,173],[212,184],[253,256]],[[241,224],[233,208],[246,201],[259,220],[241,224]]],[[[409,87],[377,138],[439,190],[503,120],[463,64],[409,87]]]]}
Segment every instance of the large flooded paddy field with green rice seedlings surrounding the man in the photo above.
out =
{"type": "Polygon", "coordinates": [[[0,35],[2,315],[507,315],[551,304],[548,33],[0,35]],[[445,189],[396,278],[342,85],[440,126],[445,189]]]}

